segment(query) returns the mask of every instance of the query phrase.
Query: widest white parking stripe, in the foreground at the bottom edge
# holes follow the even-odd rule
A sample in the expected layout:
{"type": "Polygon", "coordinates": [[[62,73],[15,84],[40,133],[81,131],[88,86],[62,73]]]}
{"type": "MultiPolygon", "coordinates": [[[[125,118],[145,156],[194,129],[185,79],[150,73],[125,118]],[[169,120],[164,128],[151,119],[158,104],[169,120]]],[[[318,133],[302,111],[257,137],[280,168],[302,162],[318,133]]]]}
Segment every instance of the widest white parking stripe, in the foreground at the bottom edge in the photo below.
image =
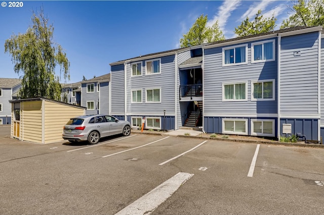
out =
{"type": "Polygon", "coordinates": [[[190,179],[193,174],[178,173],[164,183],[160,184],[141,198],[134,201],[115,215],[150,214],[161,203],[167,200],[179,187],[190,179]]]}

